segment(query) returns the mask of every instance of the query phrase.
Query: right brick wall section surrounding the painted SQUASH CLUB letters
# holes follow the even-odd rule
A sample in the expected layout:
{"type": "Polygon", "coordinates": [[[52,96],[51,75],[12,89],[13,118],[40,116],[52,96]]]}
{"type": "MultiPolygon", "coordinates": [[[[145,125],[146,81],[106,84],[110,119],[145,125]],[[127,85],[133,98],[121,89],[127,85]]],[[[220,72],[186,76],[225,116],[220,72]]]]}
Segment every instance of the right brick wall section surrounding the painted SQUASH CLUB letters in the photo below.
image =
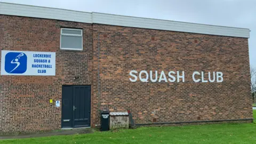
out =
{"type": "Polygon", "coordinates": [[[100,109],[131,109],[137,124],[252,118],[247,38],[96,24],[93,30],[94,63],[100,33],[99,98],[96,77],[93,83],[100,109]],[[185,83],[131,82],[131,70],[158,70],[158,77],[161,70],[185,71],[185,83]],[[194,71],[221,71],[224,81],[195,83],[194,71]]]}

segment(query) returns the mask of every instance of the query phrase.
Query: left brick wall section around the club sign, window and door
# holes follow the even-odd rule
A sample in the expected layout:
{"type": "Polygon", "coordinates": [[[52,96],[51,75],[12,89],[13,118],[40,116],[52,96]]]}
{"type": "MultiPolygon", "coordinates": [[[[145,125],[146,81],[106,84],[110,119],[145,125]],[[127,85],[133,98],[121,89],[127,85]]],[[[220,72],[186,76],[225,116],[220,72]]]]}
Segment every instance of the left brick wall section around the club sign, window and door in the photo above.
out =
{"type": "Polygon", "coordinates": [[[56,52],[56,76],[0,76],[0,133],[61,128],[62,85],[92,84],[91,24],[0,15],[0,50],[56,52]],[[83,51],[60,50],[60,28],[83,29],[83,51]],[[78,76],[78,79],[74,79],[78,76]]]}

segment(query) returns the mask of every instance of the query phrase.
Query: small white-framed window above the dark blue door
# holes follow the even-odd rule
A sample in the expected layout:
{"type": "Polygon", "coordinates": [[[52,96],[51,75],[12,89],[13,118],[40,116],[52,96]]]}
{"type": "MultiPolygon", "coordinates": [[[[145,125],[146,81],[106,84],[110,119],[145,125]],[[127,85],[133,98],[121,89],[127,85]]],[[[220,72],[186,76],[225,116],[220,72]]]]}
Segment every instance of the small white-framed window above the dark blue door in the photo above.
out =
{"type": "Polygon", "coordinates": [[[83,30],[61,28],[60,49],[61,50],[83,50],[83,30]]]}

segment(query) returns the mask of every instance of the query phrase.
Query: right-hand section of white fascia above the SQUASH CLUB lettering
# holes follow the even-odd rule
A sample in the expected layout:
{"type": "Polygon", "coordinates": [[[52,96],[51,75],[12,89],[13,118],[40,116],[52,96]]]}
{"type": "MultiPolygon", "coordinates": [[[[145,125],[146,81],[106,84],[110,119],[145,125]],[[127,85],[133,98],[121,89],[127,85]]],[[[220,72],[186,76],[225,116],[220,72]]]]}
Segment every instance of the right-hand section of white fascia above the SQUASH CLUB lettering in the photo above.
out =
{"type": "Polygon", "coordinates": [[[203,25],[198,23],[159,20],[149,18],[128,17],[123,15],[92,13],[93,23],[124,27],[137,27],[159,30],[180,31],[207,35],[250,37],[250,29],[203,25]]]}

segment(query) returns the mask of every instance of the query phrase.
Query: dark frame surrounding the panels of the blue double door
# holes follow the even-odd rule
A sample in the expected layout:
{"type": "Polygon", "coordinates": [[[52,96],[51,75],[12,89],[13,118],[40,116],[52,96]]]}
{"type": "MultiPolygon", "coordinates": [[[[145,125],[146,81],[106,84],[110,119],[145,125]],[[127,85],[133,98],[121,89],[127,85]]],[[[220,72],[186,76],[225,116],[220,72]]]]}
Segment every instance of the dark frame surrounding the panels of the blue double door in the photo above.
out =
{"type": "Polygon", "coordinates": [[[61,129],[76,129],[76,128],[82,128],[82,127],[75,127],[75,119],[74,119],[74,115],[75,115],[75,113],[74,113],[74,110],[73,110],[73,113],[72,113],[72,116],[71,116],[71,121],[72,121],[72,123],[71,123],[71,127],[65,127],[65,128],[63,128],[62,127],[62,121],[63,121],[63,119],[62,119],[62,107],[63,107],[63,101],[62,101],[62,97],[63,97],[63,95],[62,95],[62,89],[63,89],[63,86],[72,86],[72,90],[73,90],[73,97],[72,97],[72,103],[71,103],[71,105],[74,107],[74,93],[75,93],[75,91],[74,91],[74,87],[75,86],[81,86],[81,87],[88,87],[89,88],[89,91],[90,91],[90,95],[89,95],[89,107],[90,107],[90,111],[89,111],[89,124],[90,124],[90,126],[86,126],[86,127],[91,127],[91,110],[92,110],[92,108],[91,108],[91,85],[62,85],[61,86],[61,129]]]}

